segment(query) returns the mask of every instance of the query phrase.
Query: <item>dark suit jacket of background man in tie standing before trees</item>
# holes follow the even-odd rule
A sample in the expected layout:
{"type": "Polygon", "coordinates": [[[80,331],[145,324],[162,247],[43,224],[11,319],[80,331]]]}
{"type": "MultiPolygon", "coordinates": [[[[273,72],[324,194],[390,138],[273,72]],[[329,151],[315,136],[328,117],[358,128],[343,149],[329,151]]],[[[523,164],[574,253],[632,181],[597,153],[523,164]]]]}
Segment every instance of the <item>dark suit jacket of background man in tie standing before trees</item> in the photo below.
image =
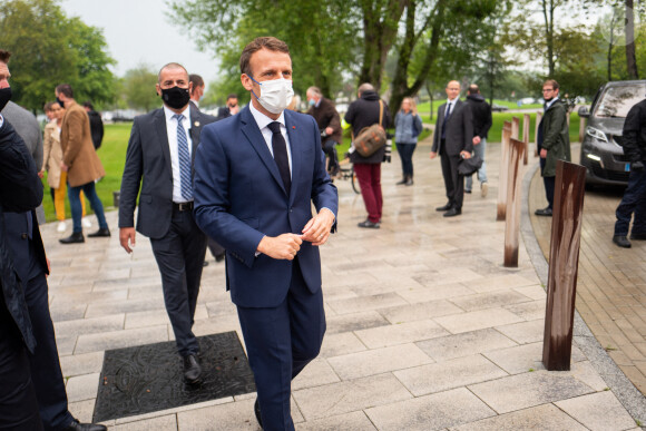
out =
{"type": "Polygon", "coordinates": [[[435,123],[431,151],[446,154],[448,156],[458,156],[462,150],[471,153],[473,150],[473,120],[471,108],[462,100],[456,102],[447,120],[447,131],[444,134],[446,148],[442,148],[441,137],[446,110],[447,104],[442,104],[438,109],[438,121],[435,123]]]}

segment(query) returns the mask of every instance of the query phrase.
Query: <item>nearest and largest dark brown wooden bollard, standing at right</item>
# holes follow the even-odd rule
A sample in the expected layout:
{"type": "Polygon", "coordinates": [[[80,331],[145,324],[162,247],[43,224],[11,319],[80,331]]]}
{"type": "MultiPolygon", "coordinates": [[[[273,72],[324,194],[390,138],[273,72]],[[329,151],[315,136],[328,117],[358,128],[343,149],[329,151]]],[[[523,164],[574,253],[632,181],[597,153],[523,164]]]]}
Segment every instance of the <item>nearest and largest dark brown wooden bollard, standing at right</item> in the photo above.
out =
{"type": "Polygon", "coordinates": [[[549,249],[542,363],[570,369],[586,168],[558,160],[549,249]]]}

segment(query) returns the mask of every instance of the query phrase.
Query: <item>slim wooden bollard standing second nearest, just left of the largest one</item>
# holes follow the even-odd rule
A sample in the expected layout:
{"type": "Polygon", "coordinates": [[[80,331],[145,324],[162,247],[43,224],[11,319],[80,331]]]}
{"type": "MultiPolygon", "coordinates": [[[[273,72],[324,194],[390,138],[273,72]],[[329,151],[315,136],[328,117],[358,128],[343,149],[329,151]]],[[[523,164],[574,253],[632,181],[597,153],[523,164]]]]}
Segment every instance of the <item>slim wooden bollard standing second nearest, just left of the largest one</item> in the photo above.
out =
{"type": "Polygon", "coordinates": [[[509,175],[507,177],[507,209],[505,219],[505,267],[518,267],[518,236],[520,234],[521,159],[526,154],[525,143],[510,139],[509,175]]]}

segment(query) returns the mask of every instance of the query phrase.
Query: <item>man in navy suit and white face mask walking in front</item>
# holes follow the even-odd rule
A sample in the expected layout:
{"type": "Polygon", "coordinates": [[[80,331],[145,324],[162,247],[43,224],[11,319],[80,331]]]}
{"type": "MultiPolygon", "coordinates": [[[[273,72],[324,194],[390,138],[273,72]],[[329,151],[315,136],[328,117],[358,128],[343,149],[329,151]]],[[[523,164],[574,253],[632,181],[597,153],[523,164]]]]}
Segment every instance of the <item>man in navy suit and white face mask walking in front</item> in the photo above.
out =
{"type": "Polygon", "coordinates": [[[319,246],[335,228],[339,197],[316,121],[285,110],[293,96],[287,45],[255,39],[242,52],[241,71],[252,102],[204,128],[195,216],[226,248],[256,418],[265,430],[293,430],[291,380],[316,357],[325,332],[319,246]]]}

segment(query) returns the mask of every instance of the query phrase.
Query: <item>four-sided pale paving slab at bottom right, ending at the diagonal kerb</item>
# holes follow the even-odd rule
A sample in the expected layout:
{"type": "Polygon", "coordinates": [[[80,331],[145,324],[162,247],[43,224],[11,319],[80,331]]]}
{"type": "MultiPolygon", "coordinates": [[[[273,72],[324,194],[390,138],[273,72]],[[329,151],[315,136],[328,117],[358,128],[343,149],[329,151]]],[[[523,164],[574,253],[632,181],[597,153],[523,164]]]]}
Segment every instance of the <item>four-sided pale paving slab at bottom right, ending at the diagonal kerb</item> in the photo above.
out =
{"type": "Polygon", "coordinates": [[[593,393],[555,403],[559,409],[594,431],[628,430],[635,420],[611,391],[593,393]]]}

